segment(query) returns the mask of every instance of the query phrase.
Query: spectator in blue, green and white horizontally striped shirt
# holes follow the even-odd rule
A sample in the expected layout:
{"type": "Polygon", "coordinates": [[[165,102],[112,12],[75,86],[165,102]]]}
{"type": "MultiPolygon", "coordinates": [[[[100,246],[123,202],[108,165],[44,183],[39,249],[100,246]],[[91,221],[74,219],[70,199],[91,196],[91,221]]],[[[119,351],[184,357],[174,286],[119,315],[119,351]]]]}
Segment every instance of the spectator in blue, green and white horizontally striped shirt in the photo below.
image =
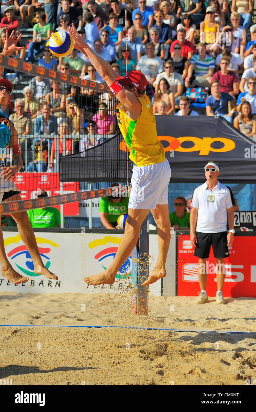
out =
{"type": "Polygon", "coordinates": [[[205,43],[199,43],[197,49],[198,54],[191,57],[185,86],[210,87],[215,67],[214,59],[206,54],[205,43]]]}

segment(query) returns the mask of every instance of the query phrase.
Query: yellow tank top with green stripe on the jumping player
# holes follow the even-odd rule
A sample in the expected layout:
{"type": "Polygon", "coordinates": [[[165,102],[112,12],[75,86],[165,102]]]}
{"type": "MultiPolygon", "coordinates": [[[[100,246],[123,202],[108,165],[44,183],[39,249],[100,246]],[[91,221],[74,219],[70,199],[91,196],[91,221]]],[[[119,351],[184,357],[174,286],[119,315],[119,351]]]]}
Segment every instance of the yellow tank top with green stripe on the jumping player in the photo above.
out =
{"type": "Polygon", "coordinates": [[[135,120],[128,117],[122,103],[116,107],[119,129],[130,151],[130,159],[136,166],[161,163],[165,160],[163,145],[157,140],[153,106],[148,96],[144,96],[146,100],[137,97],[142,105],[142,111],[135,120]]]}

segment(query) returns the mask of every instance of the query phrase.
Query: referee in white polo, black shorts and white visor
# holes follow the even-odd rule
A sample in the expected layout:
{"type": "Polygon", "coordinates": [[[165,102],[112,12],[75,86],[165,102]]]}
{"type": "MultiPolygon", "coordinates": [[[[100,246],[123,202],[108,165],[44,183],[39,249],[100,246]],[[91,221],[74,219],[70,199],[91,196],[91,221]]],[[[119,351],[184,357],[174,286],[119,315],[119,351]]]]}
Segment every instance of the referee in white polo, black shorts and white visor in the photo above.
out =
{"type": "Polygon", "coordinates": [[[225,303],[222,288],[225,280],[225,258],[229,256],[228,246],[234,241],[233,194],[229,187],[219,183],[220,167],[217,162],[205,165],[206,182],[196,187],[191,201],[190,240],[198,256],[198,279],[200,295],[195,304],[207,302],[207,261],[211,246],[216,262],[216,303],[225,303]],[[228,223],[228,233],[227,233],[228,223]]]}

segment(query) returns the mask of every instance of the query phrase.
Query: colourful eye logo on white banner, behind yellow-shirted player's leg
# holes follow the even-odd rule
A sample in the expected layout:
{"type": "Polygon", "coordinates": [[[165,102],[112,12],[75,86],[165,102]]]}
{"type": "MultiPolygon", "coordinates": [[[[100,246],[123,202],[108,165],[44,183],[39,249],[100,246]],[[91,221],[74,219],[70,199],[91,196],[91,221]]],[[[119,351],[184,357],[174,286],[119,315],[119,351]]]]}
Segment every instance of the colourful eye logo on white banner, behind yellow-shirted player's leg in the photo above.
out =
{"type": "MultiPolygon", "coordinates": [[[[112,245],[119,245],[120,242],[121,238],[119,237],[105,236],[103,239],[96,239],[88,243],[88,247],[90,249],[97,247],[97,253],[94,256],[94,259],[98,260],[98,262],[102,265],[103,269],[105,270],[111,264],[112,260],[114,260],[118,246],[108,246],[107,248],[102,248],[102,246],[106,246],[107,243],[112,243],[112,245]]],[[[130,255],[123,263],[123,265],[120,267],[118,273],[116,274],[116,279],[126,279],[130,277],[131,270],[132,256],[130,255]]]]}

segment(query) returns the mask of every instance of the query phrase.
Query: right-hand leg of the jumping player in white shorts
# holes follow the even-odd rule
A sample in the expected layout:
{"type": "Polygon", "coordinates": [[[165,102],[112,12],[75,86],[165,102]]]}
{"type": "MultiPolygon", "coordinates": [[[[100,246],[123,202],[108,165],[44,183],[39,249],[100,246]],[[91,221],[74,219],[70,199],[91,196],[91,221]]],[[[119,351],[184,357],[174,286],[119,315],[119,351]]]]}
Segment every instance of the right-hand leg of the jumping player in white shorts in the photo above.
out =
{"type": "Polygon", "coordinates": [[[171,224],[168,213],[168,204],[157,205],[155,209],[150,210],[157,225],[158,230],[158,259],[156,266],[149,275],[148,279],[142,283],[142,286],[150,285],[166,276],[165,262],[169,250],[171,239],[171,224]]]}

